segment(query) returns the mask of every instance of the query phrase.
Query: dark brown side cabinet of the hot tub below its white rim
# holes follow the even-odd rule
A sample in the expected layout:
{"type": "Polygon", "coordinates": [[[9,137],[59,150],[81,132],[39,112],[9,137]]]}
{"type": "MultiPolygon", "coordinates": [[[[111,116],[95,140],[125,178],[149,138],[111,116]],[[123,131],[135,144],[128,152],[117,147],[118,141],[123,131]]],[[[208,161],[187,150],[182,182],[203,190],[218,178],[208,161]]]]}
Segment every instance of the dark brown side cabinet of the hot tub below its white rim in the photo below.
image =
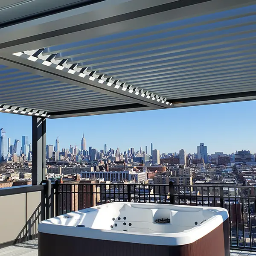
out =
{"type": "Polygon", "coordinates": [[[38,256],[229,256],[229,220],[192,244],[167,246],[40,233],[38,256]]]}

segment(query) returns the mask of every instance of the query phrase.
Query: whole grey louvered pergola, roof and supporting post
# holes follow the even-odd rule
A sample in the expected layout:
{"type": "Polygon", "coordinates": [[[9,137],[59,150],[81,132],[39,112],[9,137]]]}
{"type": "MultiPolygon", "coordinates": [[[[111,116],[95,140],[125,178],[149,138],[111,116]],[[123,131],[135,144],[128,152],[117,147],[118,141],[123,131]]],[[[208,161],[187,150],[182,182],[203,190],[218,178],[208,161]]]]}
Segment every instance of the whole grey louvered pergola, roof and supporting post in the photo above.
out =
{"type": "Polygon", "coordinates": [[[256,99],[255,0],[2,0],[0,111],[46,119],[256,99]]]}

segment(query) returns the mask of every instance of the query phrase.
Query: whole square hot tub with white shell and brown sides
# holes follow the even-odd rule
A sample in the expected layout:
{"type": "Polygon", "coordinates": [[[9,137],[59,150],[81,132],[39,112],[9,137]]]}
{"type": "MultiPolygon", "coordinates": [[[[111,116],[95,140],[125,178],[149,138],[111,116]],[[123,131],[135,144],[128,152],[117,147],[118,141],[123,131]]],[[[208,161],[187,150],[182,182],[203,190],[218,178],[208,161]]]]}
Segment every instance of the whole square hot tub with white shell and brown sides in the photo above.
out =
{"type": "Polygon", "coordinates": [[[228,256],[226,209],[109,203],[42,221],[39,256],[228,256]]]}

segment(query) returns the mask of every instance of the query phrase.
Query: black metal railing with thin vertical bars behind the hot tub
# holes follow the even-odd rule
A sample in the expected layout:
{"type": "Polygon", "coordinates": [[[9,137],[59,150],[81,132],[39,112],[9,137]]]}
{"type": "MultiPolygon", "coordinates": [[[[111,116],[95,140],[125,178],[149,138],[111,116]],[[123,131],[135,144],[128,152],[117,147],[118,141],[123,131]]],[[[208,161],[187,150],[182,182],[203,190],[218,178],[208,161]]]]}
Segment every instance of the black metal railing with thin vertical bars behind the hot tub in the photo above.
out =
{"type": "Polygon", "coordinates": [[[230,247],[256,250],[256,188],[250,186],[134,183],[55,183],[55,215],[108,202],[224,207],[230,215],[230,247]]]}

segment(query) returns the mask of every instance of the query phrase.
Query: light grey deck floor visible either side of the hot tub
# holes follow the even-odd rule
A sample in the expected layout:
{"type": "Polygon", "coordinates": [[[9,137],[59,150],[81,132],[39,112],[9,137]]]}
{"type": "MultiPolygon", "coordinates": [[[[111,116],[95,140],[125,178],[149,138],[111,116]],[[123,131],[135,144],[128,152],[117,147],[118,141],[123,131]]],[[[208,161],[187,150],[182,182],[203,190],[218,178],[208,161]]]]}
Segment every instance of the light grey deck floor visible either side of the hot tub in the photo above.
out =
{"type": "MultiPolygon", "coordinates": [[[[2,248],[0,256],[38,256],[38,241],[35,239],[2,248]]],[[[256,256],[256,252],[230,250],[230,256],[256,256]]]]}

